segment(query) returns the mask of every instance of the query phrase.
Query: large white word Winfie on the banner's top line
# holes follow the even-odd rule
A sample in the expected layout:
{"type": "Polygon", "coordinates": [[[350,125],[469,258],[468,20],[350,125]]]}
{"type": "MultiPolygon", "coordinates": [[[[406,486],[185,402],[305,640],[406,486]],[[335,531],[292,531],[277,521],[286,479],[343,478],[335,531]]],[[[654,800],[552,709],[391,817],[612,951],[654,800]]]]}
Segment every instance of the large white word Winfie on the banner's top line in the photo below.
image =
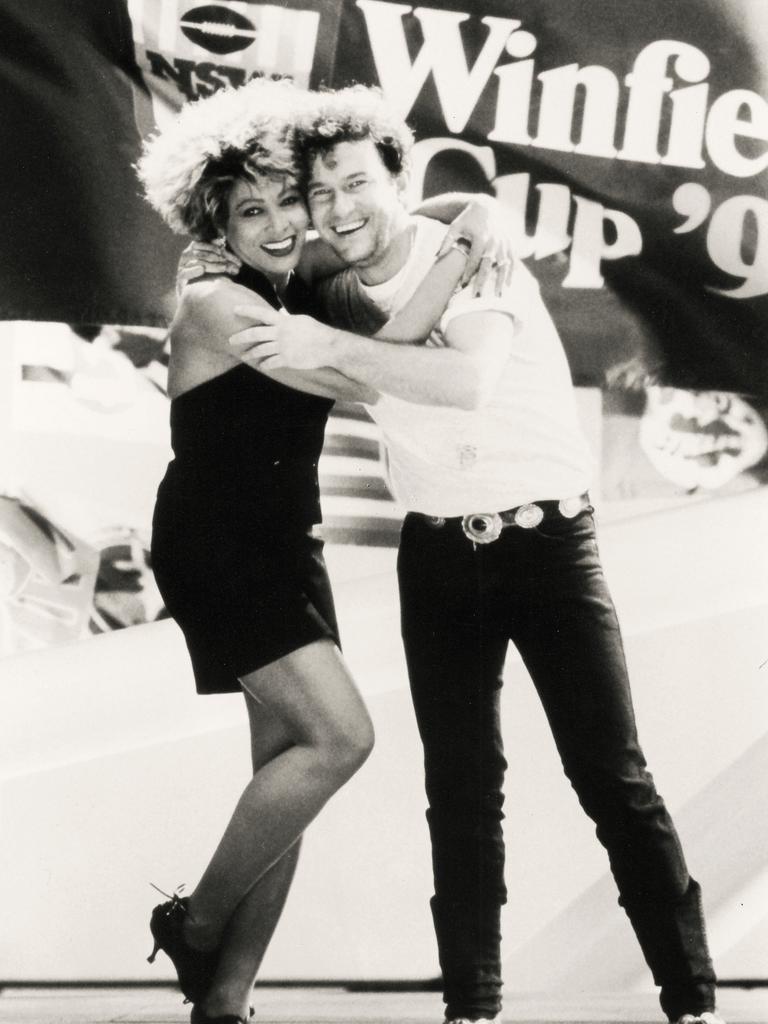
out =
{"type": "Polygon", "coordinates": [[[561,153],[617,158],[645,164],[702,168],[705,138],[710,159],[734,177],[750,177],[768,167],[768,151],[743,156],[734,137],[768,142],[768,101],[748,89],[718,97],[708,114],[710,58],[698,47],[681,40],[648,43],[625,78],[627,116],[621,148],[613,137],[621,100],[617,77],[608,68],[566,65],[537,75],[540,89],[537,134],[527,131],[534,95],[535,60],[496,66],[503,52],[513,57],[529,54],[537,40],[518,32],[513,18],[483,17],[488,29],[482,50],[468,69],[461,26],[470,19],[462,11],[413,7],[388,0],[356,0],[368,29],[376,73],[387,98],[407,117],[430,74],[449,131],[464,131],[492,76],[498,79],[496,123],[488,138],[561,153]],[[403,18],[413,14],[424,36],[412,59],[403,18]],[[517,40],[520,40],[519,42],[517,40]],[[524,40],[524,43],[523,43],[524,40]],[[675,78],[685,83],[675,89],[675,78]],[[572,140],[577,90],[586,93],[580,139],[572,140]],[[741,116],[746,110],[749,117],[741,116]],[[659,152],[663,127],[668,127],[665,153],[659,152]]]}

